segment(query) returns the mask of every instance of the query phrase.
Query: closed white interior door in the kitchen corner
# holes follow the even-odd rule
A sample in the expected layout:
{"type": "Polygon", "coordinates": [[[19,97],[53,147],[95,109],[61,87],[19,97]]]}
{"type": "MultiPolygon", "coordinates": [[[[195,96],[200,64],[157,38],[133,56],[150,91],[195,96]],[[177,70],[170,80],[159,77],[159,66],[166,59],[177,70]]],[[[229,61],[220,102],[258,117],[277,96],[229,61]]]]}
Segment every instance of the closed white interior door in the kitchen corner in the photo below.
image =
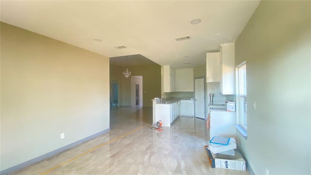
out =
{"type": "Polygon", "coordinates": [[[195,116],[201,119],[205,119],[204,116],[204,78],[195,79],[195,116]]]}

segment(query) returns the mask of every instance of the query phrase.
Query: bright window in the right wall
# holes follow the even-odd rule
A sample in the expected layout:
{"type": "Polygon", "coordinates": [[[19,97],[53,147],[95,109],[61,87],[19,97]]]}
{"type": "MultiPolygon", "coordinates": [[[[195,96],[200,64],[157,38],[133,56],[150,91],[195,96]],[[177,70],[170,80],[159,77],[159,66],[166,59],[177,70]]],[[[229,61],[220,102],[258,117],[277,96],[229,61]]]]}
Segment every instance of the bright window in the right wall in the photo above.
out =
{"type": "Polygon", "coordinates": [[[246,100],[246,62],[236,68],[237,72],[237,121],[247,129],[247,100],[246,100]]]}

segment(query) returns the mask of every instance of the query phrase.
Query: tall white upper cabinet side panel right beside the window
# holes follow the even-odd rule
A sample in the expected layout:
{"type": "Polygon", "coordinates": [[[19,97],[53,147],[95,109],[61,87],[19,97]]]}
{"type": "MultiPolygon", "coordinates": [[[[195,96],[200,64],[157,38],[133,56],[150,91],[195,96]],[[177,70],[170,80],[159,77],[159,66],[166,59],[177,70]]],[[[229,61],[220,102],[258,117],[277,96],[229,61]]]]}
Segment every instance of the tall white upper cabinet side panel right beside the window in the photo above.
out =
{"type": "Polygon", "coordinates": [[[224,95],[235,94],[234,43],[220,44],[220,87],[224,95]]]}

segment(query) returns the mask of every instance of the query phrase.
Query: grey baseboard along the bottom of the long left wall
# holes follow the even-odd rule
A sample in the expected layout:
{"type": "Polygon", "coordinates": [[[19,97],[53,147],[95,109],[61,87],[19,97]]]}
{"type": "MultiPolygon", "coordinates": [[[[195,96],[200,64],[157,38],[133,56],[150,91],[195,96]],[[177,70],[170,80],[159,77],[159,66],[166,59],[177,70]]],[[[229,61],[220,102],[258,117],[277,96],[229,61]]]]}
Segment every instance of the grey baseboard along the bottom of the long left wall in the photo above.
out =
{"type": "Polygon", "coordinates": [[[26,161],[26,162],[24,162],[24,163],[20,163],[20,164],[18,164],[18,165],[13,166],[13,167],[10,167],[10,168],[7,168],[7,169],[5,169],[5,170],[2,170],[2,171],[0,172],[0,175],[4,175],[4,174],[7,174],[7,173],[12,173],[13,171],[16,171],[16,170],[19,170],[19,169],[21,169],[21,168],[27,167],[27,166],[29,166],[29,165],[31,165],[31,164],[37,163],[37,162],[39,162],[40,160],[43,160],[43,159],[45,159],[45,158],[48,158],[48,157],[50,157],[50,156],[53,156],[54,154],[60,153],[60,152],[62,152],[62,151],[65,151],[66,149],[72,148],[72,147],[74,147],[74,146],[76,146],[76,145],[78,145],[78,144],[80,144],[80,143],[86,142],[86,141],[88,141],[88,140],[90,140],[90,139],[93,139],[94,137],[97,137],[97,136],[99,136],[99,135],[101,135],[101,134],[104,134],[104,133],[106,133],[106,132],[109,132],[109,131],[110,131],[110,128],[105,129],[105,130],[100,131],[100,132],[98,132],[98,133],[96,133],[96,134],[90,135],[90,136],[88,136],[88,137],[86,137],[86,138],[84,138],[84,139],[81,139],[81,140],[78,140],[78,141],[76,141],[76,142],[70,143],[69,145],[63,146],[63,147],[58,148],[58,149],[56,149],[56,150],[54,150],[54,151],[51,151],[51,152],[46,153],[46,154],[43,154],[43,155],[41,155],[41,156],[39,156],[39,157],[30,159],[30,160],[28,160],[28,161],[26,161]]]}

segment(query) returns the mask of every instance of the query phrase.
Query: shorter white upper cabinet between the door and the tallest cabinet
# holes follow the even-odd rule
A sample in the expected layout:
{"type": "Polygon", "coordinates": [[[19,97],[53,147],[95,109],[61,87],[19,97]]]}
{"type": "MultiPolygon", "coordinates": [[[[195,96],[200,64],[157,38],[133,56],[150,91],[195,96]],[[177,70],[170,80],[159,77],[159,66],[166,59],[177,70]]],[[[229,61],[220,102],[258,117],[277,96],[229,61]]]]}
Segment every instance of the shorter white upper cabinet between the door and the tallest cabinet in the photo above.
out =
{"type": "Polygon", "coordinates": [[[220,52],[206,54],[206,81],[220,82],[220,52]]]}

